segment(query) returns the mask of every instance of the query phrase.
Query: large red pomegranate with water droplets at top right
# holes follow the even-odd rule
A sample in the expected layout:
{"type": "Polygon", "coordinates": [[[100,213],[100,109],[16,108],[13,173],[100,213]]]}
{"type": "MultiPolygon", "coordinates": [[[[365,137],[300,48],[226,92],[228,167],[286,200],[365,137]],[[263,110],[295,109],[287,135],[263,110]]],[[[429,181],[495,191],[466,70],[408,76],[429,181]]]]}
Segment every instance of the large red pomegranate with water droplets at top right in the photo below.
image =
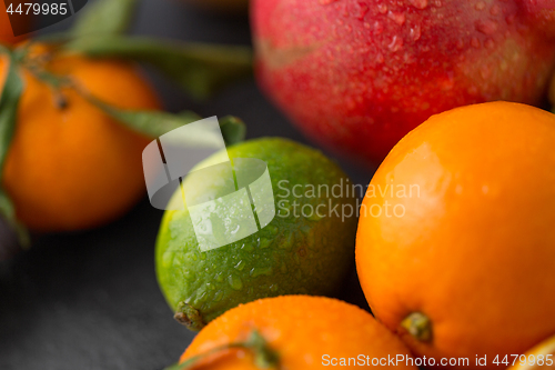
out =
{"type": "Polygon", "coordinates": [[[256,76],[309,137],[375,164],[434,113],[539,104],[555,61],[553,9],[554,0],[254,0],[256,76]]]}

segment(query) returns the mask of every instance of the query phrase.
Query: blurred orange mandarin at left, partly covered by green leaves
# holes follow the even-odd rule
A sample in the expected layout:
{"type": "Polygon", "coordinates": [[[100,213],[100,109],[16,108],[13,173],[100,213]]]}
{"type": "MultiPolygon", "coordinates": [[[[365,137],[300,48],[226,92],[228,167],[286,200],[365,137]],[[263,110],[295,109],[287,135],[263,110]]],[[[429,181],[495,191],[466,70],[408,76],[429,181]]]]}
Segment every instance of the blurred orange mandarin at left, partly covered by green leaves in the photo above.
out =
{"type": "MultiPolygon", "coordinates": [[[[33,49],[37,60],[48,48],[33,49]]],[[[0,82],[7,61],[0,61],[0,82]]],[[[158,109],[134,66],[59,56],[43,68],[67,76],[98,99],[124,109],[158,109]]],[[[91,228],[125,212],[144,192],[141,153],[151,139],[130,131],[74,90],[61,107],[53,89],[20,69],[24,92],[2,173],[17,217],[37,230],[91,228]]]]}

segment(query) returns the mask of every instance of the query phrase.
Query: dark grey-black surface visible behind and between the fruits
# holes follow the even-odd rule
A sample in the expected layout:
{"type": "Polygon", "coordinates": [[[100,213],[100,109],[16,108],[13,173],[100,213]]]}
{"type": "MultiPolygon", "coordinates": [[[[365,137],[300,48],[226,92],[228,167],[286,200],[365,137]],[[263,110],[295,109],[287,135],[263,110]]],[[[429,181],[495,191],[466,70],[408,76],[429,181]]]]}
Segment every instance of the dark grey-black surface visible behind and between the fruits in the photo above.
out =
{"type": "MultiPolygon", "coordinates": [[[[142,0],[137,16],[133,33],[251,42],[246,17],[209,14],[178,0],[142,0]]],[[[63,30],[72,21],[46,31],[63,30]]],[[[253,79],[199,104],[151,71],[149,76],[170,111],[234,114],[246,122],[249,138],[281,136],[309,142],[253,79]]],[[[354,182],[370,182],[373,169],[340,162],[354,182]]],[[[161,217],[143,199],[112,224],[34,236],[31,250],[0,262],[0,369],[160,370],[175,362],[193,333],[173,320],[155,280],[154,241],[161,217]]],[[[340,298],[366,307],[354,270],[340,298]]]]}

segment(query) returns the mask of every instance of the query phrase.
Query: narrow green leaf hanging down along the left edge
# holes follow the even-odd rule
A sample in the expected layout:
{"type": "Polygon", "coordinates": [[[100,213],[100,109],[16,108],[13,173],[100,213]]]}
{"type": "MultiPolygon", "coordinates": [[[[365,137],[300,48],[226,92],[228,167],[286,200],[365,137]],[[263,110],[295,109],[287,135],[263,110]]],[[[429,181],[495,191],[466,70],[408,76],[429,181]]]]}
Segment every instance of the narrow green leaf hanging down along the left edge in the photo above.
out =
{"type": "MultiPolygon", "coordinates": [[[[23,92],[23,81],[19,77],[12,54],[6,49],[0,49],[8,56],[9,69],[0,97],[0,176],[3,172],[6,158],[16,132],[19,99],[23,92]]],[[[1,182],[0,182],[1,183],[1,182]]],[[[16,219],[13,203],[0,187],[0,214],[16,229],[21,246],[29,246],[27,230],[16,219]]]]}

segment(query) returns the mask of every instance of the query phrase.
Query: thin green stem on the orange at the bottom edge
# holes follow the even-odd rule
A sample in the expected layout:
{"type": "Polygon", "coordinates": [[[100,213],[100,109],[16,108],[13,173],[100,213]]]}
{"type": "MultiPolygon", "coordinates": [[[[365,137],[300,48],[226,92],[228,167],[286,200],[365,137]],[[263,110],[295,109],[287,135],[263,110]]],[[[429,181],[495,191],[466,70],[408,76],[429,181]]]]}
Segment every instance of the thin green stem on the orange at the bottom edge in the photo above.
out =
{"type": "Polygon", "coordinates": [[[250,350],[254,354],[254,364],[260,369],[279,369],[280,359],[278,353],[270,348],[264,337],[254,330],[249,339],[243,342],[234,342],[213,348],[204,353],[193,356],[181,363],[176,363],[165,370],[189,370],[200,364],[203,360],[212,354],[224,352],[230,349],[250,350]]]}

